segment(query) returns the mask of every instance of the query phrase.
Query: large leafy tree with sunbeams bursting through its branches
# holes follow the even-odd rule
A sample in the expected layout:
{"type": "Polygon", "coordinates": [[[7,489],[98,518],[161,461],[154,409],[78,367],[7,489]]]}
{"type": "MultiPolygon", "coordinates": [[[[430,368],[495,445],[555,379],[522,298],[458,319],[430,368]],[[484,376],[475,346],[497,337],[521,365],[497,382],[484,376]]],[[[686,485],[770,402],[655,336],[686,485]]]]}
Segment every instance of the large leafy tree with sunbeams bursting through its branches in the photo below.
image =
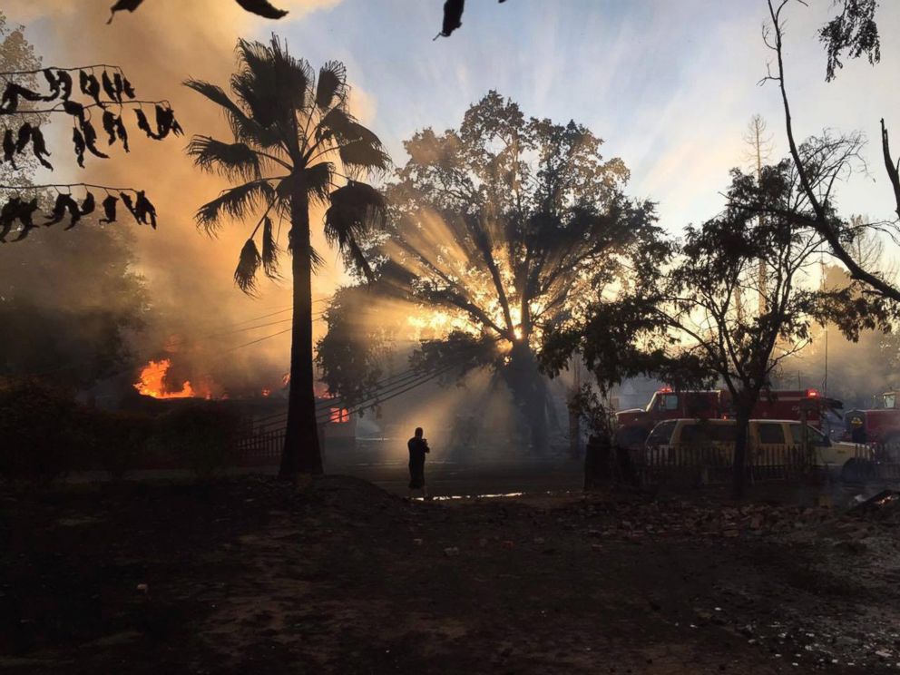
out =
{"type": "MultiPolygon", "coordinates": [[[[576,124],[527,119],[488,93],[458,129],[426,129],[405,143],[409,161],[387,190],[392,218],[372,250],[381,261],[371,297],[409,313],[446,315],[443,335],[424,340],[413,366],[460,369],[492,363],[531,428],[548,443],[546,381],[534,353],[546,331],[583,307],[588,289],[616,294],[667,248],[653,206],[622,193],[628,171],[606,161],[602,141],[576,124]]],[[[329,323],[332,333],[345,334],[329,323]]],[[[360,339],[357,348],[365,349],[360,339]]],[[[339,363],[322,363],[336,393],[339,363]]]]}

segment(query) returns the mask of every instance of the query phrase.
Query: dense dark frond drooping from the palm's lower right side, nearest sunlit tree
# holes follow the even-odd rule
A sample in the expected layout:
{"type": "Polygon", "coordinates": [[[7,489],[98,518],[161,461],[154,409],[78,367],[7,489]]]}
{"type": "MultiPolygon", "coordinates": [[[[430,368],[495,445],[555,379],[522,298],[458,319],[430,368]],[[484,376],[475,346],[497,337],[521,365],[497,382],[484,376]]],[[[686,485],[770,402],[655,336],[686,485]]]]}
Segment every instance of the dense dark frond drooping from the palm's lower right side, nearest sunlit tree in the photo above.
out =
{"type": "Polygon", "coordinates": [[[357,239],[384,226],[387,205],[384,196],[371,185],[349,181],[331,193],[331,207],[325,212],[325,236],[372,279],[372,270],[359,249],[357,239]]]}

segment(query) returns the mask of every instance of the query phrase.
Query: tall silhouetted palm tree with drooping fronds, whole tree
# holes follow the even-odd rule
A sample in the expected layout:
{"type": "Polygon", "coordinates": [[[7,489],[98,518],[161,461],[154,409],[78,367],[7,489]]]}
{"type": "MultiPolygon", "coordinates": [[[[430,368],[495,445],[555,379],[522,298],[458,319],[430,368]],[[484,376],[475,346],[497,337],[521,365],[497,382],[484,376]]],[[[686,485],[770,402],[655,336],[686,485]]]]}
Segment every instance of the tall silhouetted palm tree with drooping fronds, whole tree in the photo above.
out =
{"type": "Polygon", "coordinates": [[[343,64],[328,62],[317,77],[306,61],[288,54],[287,44],[275,35],[269,44],[239,40],[237,52],[239,69],[230,79],[233,98],[215,84],[185,83],[220,106],[233,135],[233,142],[194,136],[188,152],[201,169],[240,183],[201,206],[197,221],[214,231],[222,220],[259,217],[234,273],[240,289],[253,294],[260,268],[278,277],[281,248],[273,217],[289,220],[294,313],[288,428],[279,475],[320,474],[311,287],[320,259],[310,245],[309,208],[317,203],[328,207],[324,229],[329,242],[371,275],[358,242],[383,222],[385,202],[377,190],[357,179],[386,171],[390,159],[377,136],[347,110],[343,64]]]}

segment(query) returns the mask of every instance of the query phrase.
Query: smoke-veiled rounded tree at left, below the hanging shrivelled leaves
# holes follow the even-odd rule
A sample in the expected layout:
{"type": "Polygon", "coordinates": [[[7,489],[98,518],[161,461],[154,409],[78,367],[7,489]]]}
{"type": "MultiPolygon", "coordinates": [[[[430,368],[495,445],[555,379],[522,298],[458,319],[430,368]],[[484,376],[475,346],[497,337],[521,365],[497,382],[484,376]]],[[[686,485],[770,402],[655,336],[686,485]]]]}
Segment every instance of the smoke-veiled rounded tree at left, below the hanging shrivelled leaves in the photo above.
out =
{"type": "Polygon", "coordinates": [[[0,247],[0,376],[83,388],[133,363],[150,298],[129,230],[95,218],[77,237],[41,228],[27,246],[0,247]]]}

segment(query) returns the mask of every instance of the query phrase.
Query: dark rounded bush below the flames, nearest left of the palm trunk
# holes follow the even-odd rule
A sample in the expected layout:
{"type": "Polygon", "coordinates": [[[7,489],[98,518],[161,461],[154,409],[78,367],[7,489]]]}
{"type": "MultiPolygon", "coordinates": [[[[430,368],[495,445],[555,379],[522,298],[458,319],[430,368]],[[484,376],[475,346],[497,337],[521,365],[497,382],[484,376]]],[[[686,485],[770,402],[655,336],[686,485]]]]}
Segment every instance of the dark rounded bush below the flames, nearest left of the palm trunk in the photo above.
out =
{"type": "Polygon", "coordinates": [[[153,445],[201,478],[229,465],[237,451],[240,416],[216,404],[172,410],[157,420],[153,445]]]}

